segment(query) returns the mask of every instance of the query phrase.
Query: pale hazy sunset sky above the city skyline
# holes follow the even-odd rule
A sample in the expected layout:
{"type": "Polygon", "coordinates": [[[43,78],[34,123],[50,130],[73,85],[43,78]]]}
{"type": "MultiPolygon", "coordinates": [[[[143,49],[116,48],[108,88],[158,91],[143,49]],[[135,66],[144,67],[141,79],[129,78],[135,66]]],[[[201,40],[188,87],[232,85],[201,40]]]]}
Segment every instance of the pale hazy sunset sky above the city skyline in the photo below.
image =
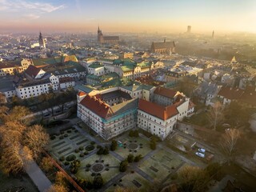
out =
{"type": "Polygon", "coordinates": [[[256,0],[0,0],[0,31],[256,33],[256,0]]]}

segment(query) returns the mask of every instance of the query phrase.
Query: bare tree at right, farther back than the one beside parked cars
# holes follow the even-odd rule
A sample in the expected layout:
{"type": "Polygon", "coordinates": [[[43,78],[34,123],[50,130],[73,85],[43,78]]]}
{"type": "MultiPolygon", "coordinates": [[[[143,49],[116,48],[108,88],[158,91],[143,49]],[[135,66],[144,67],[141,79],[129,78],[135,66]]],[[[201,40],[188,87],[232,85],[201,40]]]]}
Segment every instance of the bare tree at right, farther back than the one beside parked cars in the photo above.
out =
{"type": "Polygon", "coordinates": [[[208,118],[209,118],[209,121],[213,123],[214,130],[216,130],[216,126],[223,119],[223,110],[224,110],[224,107],[222,106],[221,102],[215,102],[214,106],[210,107],[208,118]]]}

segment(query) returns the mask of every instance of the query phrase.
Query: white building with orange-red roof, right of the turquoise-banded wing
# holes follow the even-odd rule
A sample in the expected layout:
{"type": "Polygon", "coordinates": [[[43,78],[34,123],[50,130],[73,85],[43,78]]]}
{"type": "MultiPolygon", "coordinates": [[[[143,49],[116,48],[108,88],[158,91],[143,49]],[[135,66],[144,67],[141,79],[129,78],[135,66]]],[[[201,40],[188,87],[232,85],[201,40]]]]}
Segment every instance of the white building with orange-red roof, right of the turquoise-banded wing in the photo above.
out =
{"type": "Polygon", "coordinates": [[[176,106],[160,106],[140,99],[138,102],[138,127],[165,139],[174,129],[179,112],[176,106]]]}

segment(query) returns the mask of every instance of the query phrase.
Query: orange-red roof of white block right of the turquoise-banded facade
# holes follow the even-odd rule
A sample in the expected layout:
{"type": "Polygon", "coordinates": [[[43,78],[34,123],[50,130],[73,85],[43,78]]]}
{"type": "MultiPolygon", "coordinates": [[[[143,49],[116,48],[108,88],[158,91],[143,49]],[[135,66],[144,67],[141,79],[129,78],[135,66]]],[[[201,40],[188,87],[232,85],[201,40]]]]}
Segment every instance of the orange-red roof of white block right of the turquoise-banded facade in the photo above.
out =
{"type": "Polygon", "coordinates": [[[157,118],[161,118],[162,120],[169,119],[178,114],[178,110],[174,105],[165,107],[143,99],[140,99],[138,102],[138,110],[143,110],[147,114],[151,114],[157,118]]]}

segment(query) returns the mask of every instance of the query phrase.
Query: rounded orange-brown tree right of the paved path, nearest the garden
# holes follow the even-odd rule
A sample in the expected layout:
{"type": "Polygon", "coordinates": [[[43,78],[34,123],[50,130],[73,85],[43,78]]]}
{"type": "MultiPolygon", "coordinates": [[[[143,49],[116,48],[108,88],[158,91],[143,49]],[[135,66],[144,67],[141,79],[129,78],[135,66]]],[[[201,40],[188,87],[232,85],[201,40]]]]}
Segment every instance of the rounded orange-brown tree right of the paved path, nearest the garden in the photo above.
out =
{"type": "Polygon", "coordinates": [[[33,152],[34,158],[38,158],[38,154],[42,153],[43,148],[49,142],[49,135],[46,134],[42,126],[30,126],[24,135],[23,144],[28,146],[33,152]]]}

